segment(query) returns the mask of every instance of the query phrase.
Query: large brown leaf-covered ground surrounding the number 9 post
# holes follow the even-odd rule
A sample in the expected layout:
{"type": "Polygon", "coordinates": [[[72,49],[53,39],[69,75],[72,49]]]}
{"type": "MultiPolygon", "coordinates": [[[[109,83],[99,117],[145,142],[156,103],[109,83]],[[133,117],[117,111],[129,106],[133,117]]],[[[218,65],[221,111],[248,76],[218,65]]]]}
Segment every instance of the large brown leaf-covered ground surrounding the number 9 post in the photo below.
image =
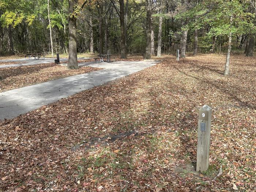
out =
{"type": "Polygon", "coordinates": [[[232,56],[228,77],[224,64],[224,56],[170,57],[0,122],[0,189],[255,191],[255,57],[232,56]],[[204,104],[213,108],[210,169],[196,173],[204,104]]]}

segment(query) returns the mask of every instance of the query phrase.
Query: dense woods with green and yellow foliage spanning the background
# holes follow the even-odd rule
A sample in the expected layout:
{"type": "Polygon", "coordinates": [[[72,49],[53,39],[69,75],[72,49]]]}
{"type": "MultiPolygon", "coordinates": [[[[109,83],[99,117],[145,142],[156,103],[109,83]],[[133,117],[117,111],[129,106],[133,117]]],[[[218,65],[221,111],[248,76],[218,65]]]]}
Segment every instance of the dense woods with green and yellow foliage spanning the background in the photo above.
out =
{"type": "Polygon", "coordinates": [[[253,55],[255,0],[2,0],[0,55],[77,52],[253,55]],[[67,30],[68,29],[68,30],[67,30]]]}

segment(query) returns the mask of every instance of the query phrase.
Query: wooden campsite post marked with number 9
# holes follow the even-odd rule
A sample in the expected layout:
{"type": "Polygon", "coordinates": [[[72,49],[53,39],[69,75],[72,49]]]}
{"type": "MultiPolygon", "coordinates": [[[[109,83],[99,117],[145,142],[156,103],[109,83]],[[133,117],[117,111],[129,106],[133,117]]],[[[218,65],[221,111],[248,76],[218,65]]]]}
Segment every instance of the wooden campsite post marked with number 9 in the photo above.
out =
{"type": "Polygon", "coordinates": [[[212,108],[204,105],[199,109],[196,171],[207,171],[209,167],[212,108]]]}

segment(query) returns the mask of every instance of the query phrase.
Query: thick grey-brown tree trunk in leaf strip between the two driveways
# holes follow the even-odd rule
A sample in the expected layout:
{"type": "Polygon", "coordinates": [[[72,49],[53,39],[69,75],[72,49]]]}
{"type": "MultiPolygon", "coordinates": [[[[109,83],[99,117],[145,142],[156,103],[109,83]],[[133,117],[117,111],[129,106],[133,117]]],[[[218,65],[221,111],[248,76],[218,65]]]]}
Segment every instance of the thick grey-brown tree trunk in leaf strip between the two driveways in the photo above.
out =
{"type": "Polygon", "coordinates": [[[68,69],[78,69],[77,63],[77,26],[76,26],[76,16],[71,15],[74,12],[74,6],[77,4],[78,0],[68,1],[68,32],[69,32],[69,53],[68,53],[68,69]]]}

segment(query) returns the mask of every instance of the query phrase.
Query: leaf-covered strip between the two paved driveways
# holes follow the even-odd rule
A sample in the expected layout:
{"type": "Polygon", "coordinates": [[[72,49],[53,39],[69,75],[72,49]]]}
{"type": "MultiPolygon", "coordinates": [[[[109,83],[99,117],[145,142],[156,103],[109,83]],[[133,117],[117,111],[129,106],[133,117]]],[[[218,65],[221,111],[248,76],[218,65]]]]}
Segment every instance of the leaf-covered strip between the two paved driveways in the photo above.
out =
{"type": "Polygon", "coordinates": [[[80,67],[78,70],[68,70],[66,67],[54,63],[0,68],[0,92],[99,69],[101,68],[80,67]]]}

